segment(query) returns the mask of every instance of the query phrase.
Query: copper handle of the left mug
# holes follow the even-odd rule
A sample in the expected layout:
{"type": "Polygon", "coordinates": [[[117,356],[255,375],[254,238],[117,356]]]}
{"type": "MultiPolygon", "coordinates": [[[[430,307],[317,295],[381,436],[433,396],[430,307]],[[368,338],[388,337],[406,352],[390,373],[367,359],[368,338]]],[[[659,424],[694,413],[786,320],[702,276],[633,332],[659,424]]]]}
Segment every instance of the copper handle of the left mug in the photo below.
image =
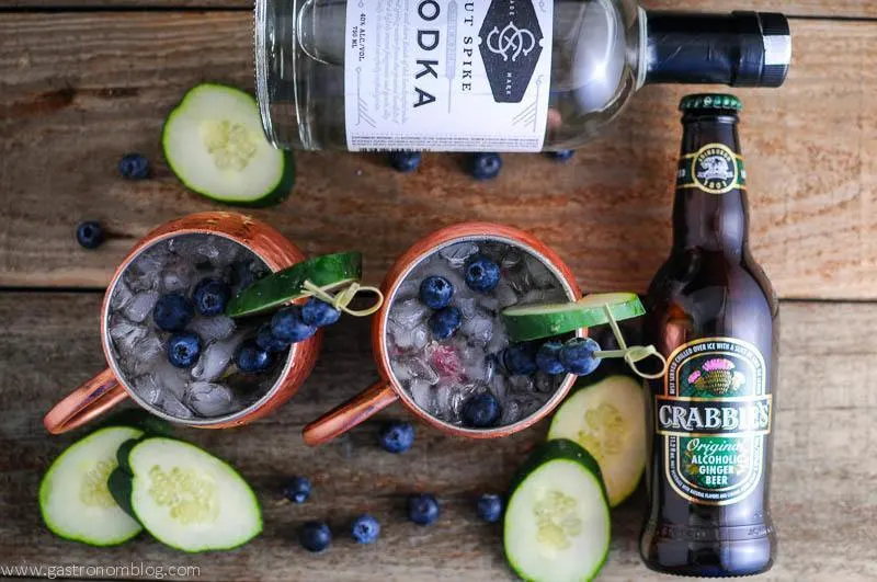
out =
{"type": "Polygon", "coordinates": [[[106,368],[52,407],[43,424],[52,434],[66,433],[103,414],[126,398],[128,392],[118,384],[113,370],[106,368]]]}

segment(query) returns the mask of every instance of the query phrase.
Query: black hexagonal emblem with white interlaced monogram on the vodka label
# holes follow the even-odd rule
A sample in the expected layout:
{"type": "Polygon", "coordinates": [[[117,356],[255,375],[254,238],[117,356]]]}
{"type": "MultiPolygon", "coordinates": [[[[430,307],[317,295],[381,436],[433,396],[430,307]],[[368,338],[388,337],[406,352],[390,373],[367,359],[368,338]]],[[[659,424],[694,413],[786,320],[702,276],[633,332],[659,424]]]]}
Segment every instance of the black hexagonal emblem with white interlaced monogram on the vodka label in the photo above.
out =
{"type": "Polygon", "coordinates": [[[520,103],[543,50],[543,33],[532,0],[492,0],[478,44],[493,100],[520,103]]]}

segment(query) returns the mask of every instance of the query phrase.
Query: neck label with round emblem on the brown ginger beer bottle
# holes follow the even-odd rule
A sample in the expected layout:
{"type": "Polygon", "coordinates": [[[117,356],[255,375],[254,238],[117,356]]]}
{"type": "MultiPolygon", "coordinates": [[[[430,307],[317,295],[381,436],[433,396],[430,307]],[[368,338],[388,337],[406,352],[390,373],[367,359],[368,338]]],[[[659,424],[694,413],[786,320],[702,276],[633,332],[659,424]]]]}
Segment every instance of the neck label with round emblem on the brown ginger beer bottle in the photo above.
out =
{"type": "Polygon", "coordinates": [[[695,187],[709,194],[744,190],[743,160],[725,144],[709,144],[682,158],[677,187],[695,187]]]}

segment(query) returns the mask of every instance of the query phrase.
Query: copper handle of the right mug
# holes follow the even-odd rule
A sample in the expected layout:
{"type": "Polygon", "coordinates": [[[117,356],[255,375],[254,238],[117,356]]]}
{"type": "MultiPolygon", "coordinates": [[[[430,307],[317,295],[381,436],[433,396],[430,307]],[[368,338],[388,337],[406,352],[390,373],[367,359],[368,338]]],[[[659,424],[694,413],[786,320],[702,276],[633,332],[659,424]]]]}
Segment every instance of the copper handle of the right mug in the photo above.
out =
{"type": "Polygon", "coordinates": [[[317,446],[343,434],[399,399],[390,383],[380,380],[333,408],[301,431],[308,446],[317,446]]]}

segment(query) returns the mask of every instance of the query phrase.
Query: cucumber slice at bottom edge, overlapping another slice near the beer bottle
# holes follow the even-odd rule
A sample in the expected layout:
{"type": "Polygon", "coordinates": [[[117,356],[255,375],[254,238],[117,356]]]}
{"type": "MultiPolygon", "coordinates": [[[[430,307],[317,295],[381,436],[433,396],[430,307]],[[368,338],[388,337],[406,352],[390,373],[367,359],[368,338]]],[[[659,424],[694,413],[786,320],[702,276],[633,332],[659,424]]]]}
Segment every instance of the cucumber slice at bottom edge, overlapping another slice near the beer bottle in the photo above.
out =
{"type": "Polygon", "coordinates": [[[610,506],[596,461],[548,441],[519,472],[505,510],[505,557],[533,582],[593,580],[610,550],[610,506]]]}

